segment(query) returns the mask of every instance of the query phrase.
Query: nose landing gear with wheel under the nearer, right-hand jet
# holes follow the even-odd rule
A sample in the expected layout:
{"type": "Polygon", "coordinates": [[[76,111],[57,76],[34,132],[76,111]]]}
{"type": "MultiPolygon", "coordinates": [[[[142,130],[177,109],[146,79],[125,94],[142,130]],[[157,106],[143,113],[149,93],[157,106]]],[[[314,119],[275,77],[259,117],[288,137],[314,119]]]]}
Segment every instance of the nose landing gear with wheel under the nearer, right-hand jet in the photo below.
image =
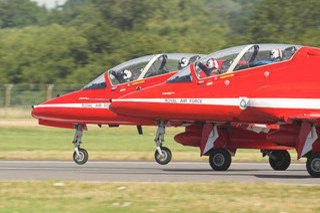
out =
{"type": "Polygon", "coordinates": [[[171,151],[167,147],[162,146],[164,141],[164,134],[166,130],[166,126],[163,120],[157,121],[158,129],[156,132],[156,137],[154,139],[157,150],[154,153],[154,158],[157,163],[161,165],[168,164],[171,161],[171,151]]]}

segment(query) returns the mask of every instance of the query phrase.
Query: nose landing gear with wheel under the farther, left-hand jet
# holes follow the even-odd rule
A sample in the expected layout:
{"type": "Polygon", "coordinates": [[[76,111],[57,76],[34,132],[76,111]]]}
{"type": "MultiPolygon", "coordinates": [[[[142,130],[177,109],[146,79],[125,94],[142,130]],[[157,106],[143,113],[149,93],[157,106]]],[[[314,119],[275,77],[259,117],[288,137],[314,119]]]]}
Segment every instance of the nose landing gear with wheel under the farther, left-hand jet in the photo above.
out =
{"type": "Polygon", "coordinates": [[[73,145],[74,145],[74,153],[73,160],[76,164],[83,165],[88,161],[88,152],[85,149],[81,149],[81,138],[82,138],[82,125],[76,124],[74,125],[76,132],[74,134],[73,145]]]}

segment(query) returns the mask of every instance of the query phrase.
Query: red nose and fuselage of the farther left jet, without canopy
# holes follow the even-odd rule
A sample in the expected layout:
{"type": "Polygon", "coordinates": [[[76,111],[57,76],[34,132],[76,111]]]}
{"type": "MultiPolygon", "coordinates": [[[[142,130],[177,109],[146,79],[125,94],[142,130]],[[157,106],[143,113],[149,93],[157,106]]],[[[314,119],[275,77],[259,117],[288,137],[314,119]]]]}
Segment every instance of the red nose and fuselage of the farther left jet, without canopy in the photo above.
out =
{"type": "Polygon", "coordinates": [[[112,86],[105,73],[106,88],[72,92],[34,106],[32,116],[39,124],[74,128],[73,124],[154,125],[153,121],[118,116],[109,111],[110,100],[165,81],[174,73],[112,86]]]}

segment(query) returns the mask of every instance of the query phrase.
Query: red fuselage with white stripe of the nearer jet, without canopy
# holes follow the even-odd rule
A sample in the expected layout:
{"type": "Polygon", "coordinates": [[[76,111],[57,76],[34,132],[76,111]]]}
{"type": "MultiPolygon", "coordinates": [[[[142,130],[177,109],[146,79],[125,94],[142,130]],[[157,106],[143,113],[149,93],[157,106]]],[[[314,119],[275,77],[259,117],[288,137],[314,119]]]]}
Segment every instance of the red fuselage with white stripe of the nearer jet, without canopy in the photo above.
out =
{"type": "Polygon", "coordinates": [[[199,79],[160,83],[112,100],[110,110],[150,120],[277,123],[320,118],[320,49],[291,60],[199,79]],[[242,106],[241,106],[242,104],[242,106]]]}

